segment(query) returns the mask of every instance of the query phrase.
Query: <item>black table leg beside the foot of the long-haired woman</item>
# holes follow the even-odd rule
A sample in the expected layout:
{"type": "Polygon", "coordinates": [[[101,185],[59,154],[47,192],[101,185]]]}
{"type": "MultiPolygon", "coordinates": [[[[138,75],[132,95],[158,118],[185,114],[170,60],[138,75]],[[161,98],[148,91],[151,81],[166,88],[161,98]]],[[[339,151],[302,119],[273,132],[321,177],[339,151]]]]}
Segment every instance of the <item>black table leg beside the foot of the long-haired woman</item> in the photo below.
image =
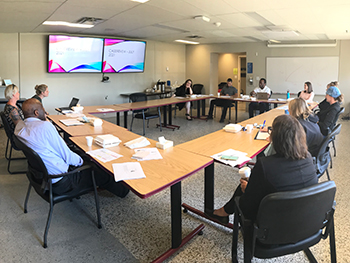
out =
{"type": "Polygon", "coordinates": [[[228,228],[233,228],[233,224],[222,224],[221,222],[210,218],[205,214],[206,211],[213,211],[214,209],[214,163],[207,166],[204,170],[204,212],[185,203],[182,204],[182,207],[184,208],[184,212],[191,211],[192,213],[211,220],[215,223],[226,226],[228,228]]]}

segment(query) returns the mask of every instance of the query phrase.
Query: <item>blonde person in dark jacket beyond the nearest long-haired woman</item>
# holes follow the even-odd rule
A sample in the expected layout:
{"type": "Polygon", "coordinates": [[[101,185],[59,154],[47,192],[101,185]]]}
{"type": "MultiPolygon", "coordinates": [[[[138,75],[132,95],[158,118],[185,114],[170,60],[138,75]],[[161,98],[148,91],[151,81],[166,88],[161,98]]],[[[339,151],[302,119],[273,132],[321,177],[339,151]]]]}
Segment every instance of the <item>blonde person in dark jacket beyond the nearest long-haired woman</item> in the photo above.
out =
{"type": "Polygon", "coordinates": [[[316,157],[324,136],[318,126],[318,117],[315,116],[302,98],[289,102],[289,114],[300,122],[306,133],[306,143],[309,152],[316,157]]]}

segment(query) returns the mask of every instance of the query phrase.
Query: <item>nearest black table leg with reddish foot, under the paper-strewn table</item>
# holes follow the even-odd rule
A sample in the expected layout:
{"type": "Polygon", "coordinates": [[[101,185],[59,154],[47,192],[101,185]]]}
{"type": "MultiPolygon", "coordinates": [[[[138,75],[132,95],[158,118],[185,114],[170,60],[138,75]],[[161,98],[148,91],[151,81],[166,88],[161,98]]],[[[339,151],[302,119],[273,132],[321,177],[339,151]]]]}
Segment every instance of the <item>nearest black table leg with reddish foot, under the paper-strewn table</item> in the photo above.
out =
{"type": "Polygon", "coordinates": [[[153,263],[163,262],[172,254],[177,252],[183,245],[190,241],[204,228],[200,224],[195,230],[182,239],[182,218],[181,218],[181,181],[170,187],[171,195],[171,249],[152,261],[153,263]]]}

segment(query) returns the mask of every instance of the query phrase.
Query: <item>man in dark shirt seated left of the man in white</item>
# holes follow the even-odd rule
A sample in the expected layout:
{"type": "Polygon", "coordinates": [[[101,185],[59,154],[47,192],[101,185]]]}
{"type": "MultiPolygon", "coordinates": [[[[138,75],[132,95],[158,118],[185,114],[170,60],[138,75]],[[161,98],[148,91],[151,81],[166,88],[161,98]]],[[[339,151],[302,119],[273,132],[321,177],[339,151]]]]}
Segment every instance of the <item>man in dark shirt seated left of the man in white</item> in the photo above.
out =
{"type": "MultiPolygon", "coordinates": [[[[224,86],[220,92],[220,95],[223,96],[234,96],[237,97],[237,89],[232,86],[232,79],[228,78],[227,79],[227,84],[224,86]]],[[[227,99],[215,99],[210,102],[210,109],[209,109],[209,114],[208,114],[208,119],[213,118],[213,111],[214,111],[214,105],[216,106],[221,106],[222,107],[222,113],[221,113],[221,118],[220,122],[224,122],[226,118],[226,113],[227,113],[227,108],[232,105],[232,100],[227,100],[227,99]]]]}

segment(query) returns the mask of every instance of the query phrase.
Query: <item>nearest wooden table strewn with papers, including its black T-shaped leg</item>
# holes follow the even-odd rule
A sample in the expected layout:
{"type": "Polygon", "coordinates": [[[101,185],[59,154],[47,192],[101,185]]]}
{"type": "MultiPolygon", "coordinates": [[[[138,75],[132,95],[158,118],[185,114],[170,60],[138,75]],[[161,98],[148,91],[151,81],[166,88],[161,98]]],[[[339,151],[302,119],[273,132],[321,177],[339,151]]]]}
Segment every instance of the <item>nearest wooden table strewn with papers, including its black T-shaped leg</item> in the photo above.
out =
{"type": "MultiPolygon", "coordinates": [[[[118,146],[108,149],[123,156],[106,163],[103,163],[98,159],[95,159],[94,161],[113,176],[113,163],[136,162],[136,160],[131,159],[134,150],[125,147],[123,144],[130,140],[139,138],[140,136],[127,130],[111,134],[117,136],[122,142],[118,146]]],[[[151,139],[148,140],[151,143],[148,147],[155,147],[156,142],[151,139]]],[[[71,137],[71,141],[84,152],[101,148],[96,144],[88,147],[84,136],[71,137]]],[[[163,262],[204,228],[204,225],[200,224],[190,234],[182,238],[181,182],[185,178],[212,165],[213,163],[212,158],[197,155],[176,147],[171,147],[165,150],[159,149],[159,152],[163,159],[139,162],[146,178],[123,181],[124,184],[140,198],[148,198],[170,187],[171,248],[153,262],[163,262]]]]}

